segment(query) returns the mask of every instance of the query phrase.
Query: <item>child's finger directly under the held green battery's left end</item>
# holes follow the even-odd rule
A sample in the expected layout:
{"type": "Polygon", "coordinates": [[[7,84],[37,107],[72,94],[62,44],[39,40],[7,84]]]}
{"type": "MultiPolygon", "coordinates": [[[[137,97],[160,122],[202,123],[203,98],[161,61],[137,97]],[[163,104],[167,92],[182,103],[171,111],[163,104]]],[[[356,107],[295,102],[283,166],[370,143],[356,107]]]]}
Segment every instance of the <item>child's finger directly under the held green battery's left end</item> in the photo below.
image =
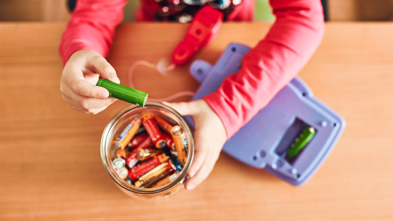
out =
{"type": "Polygon", "coordinates": [[[85,97],[107,98],[109,91],[103,87],[95,86],[84,79],[69,78],[68,85],[72,92],[85,97]]]}

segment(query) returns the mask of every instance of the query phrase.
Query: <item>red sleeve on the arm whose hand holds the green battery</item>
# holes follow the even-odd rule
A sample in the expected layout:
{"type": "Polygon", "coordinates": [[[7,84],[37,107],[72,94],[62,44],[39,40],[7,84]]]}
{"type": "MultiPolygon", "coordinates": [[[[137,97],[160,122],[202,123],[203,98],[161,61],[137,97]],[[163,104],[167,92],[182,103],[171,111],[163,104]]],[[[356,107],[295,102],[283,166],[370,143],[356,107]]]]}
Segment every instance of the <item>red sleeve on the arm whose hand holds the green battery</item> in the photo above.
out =
{"type": "Polygon", "coordinates": [[[116,26],[127,0],[78,0],[59,47],[63,65],[77,50],[90,49],[108,56],[116,26]]]}

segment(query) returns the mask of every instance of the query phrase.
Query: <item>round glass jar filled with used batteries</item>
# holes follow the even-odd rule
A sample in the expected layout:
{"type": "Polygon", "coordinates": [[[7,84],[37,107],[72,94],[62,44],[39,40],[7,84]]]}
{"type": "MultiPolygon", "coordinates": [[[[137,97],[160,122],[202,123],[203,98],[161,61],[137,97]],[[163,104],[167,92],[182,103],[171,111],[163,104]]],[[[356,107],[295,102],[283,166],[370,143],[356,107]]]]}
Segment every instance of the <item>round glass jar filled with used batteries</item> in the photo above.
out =
{"type": "Polygon", "coordinates": [[[130,105],[101,138],[104,168],[133,198],[167,198],[184,183],[194,155],[192,132],[173,108],[158,102],[130,105]]]}

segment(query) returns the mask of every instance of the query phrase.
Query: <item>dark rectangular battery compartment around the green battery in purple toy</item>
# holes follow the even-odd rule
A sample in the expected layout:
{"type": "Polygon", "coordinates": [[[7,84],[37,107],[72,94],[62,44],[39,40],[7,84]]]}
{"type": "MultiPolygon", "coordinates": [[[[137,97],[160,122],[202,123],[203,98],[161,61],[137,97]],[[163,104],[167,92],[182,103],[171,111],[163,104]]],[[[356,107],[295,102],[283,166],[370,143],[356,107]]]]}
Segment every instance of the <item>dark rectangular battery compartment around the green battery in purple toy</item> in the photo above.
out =
{"type": "Polygon", "coordinates": [[[280,140],[279,144],[276,147],[276,154],[280,156],[280,158],[286,160],[287,162],[293,164],[296,159],[301,155],[301,153],[304,151],[304,149],[307,147],[307,145],[311,142],[311,140],[315,137],[317,131],[315,130],[314,127],[311,125],[306,124],[304,121],[300,120],[299,118],[295,118],[293,123],[288,127],[288,129],[285,131],[284,136],[280,140]],[[299,139],[305,139],[304,137],[304,131],[312,128],[314,130],[314,133],[311,136],[308,136],[308,140],[305,142],[305,145],[303,144],[303,147],[296,152],[296,154],[292,157],[288,155],[288,151],[290,148],[293,148],[293,144],[295,142],[299,142],[299,139]]]}

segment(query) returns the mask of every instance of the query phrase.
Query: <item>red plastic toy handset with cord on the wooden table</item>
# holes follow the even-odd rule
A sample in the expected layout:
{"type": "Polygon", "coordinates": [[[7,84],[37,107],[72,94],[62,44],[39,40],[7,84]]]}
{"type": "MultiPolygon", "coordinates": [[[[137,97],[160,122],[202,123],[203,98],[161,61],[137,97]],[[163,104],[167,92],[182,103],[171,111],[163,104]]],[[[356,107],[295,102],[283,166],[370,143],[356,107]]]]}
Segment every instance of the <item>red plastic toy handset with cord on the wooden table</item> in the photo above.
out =
{"type": "Polygon", "coordinates": [[[223,22],[223,13],[207,5],[195,14],[184,39],[175,48],[172,61],[183,65],[207,43],[216,37],[223,22]]]}

